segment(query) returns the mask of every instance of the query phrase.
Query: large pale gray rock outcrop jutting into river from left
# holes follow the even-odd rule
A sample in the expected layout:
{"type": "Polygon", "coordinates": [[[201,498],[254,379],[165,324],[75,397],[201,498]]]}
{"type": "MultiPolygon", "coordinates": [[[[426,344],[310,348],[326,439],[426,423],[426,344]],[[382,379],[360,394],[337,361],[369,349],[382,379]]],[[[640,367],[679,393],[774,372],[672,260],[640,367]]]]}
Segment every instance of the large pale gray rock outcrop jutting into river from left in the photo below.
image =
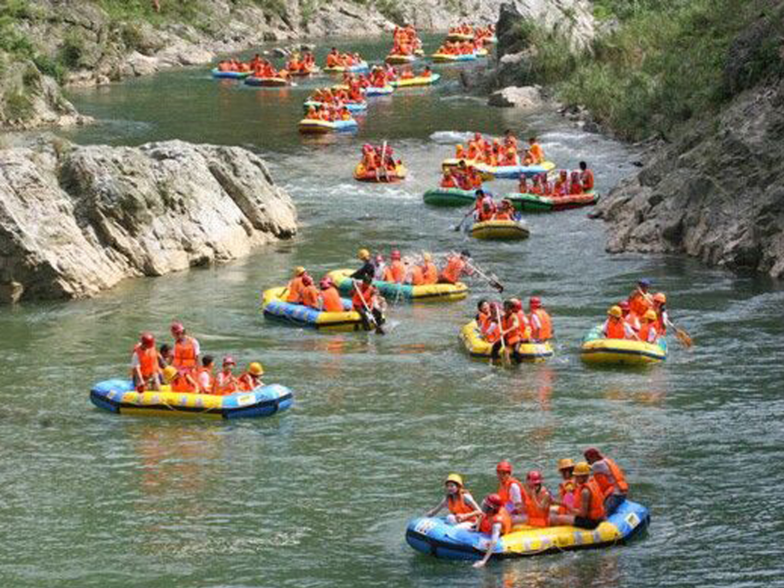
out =
{"type": "Polygon", "coordinates": [[[220,263],[296,232],[291,198],[239,147],[181,141],[0,151],[0,298],[84,298],[220,263]]]}

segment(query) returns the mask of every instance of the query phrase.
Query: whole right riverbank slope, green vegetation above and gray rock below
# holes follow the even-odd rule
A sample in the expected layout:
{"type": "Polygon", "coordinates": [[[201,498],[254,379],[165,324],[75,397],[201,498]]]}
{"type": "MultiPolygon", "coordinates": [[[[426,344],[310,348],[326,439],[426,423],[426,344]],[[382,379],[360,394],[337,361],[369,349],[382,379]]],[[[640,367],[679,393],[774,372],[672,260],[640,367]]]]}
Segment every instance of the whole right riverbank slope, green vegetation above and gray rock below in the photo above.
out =
{"type": "Polygon", "coordinates": [[[499,41],[512,31],[517,44],[499,43],[497,77],[549,85],[597,127],[655,140],[641,172],[597,207],[608,251],[784,277],[784,2],[596,4],[620,20],[561,60],[549,56],[564,38],[524,17],[499,22],[499,41]]]}

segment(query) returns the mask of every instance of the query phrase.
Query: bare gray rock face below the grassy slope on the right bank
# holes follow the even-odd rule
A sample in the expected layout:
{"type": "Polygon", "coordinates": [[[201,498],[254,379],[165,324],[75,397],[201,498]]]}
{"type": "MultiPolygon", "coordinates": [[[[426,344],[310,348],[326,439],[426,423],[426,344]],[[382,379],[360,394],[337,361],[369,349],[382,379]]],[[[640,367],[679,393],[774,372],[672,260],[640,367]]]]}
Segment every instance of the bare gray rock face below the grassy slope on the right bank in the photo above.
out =
{"type": "Polygon", "coordinates": [[[610,252],[685,252],[784,277],[784,81],[735,98],[597,207],[610,252]]]}

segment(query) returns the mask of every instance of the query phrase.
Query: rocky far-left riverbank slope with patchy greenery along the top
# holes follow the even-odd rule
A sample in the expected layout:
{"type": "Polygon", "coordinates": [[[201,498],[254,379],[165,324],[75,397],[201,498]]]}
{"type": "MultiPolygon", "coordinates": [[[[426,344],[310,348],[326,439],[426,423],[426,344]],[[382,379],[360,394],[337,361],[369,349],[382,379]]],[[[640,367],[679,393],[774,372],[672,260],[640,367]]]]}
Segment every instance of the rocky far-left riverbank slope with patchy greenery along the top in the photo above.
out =
{"type": "MultiPolygon", "coordinates": [[[[583,0],[520,0],[547,22],[587,14],[583,0]]],[[[0,127],[82,122],[57,84],[85,85],[207,64],[264,42],[362,36],[412,23],[423,31],[490,23],[499,0],[9,0],[0,5],[0,127]],[[52,82],[52,78],[57,83],[52,82]]],[[[592,34],[586,20],[575,29],[592,34]]],[[[581,41],[581,42],[583,42],[581,41]]]]}

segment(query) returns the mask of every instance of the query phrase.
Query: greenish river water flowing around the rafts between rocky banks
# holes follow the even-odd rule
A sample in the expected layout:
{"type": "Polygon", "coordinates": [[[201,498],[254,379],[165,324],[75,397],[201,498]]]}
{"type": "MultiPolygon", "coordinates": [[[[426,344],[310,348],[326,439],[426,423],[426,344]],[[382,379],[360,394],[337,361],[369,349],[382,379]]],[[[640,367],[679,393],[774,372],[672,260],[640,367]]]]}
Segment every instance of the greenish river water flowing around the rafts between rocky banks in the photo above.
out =
{"type": "MultiPolygon", "coordinates": [[[[380,58],[386,40],[341,42],[380,58]]],[[[427,40],[434,48],[434,39],[427,40]]],[[[324,51],[321,51],[323,55],[324,51]]],[[[470,66],[469,66],[470,67],[470,66]]],[[[96,299],[0,310],[2,586],[772,586],[781,582],[784,289],[677,256],[609,256],[584,210],[531,217],[520,243],[468,241],[462,212],[423,205],[462,133],[541,137],[562,167],[585,158],[606,191],[635,154],[553,114],[521,117],[443,83],[372,103],[358,136],[307,140],[301,102],[324,80],[284,90],[168,71],[72,93],[99,124],[82,143],[180,138],[259,151],[296,201],[292,241],[220,267],[127,281],[96,299]],[[411,177],[354,183],[364,142],[390,143],[411,177]],[[259,292],[293,266],[320,275],[356,249],[470,247],[510,294],[543,297],[557,354],[518,368],[466,356],[459,327],[478,298],[395,306],[390,333],[320,334],[265,321],[259,292]],[[588,368],[579,339],[638,277],[666,292],[695,338],[644,371],[588,368]],[[125,373],[138,332],[182,319],[202,347],[260,359],[294,390],[289,412],[252,422],[114,416],[92,383],[125,373]],[[494,466],[539,468],[597,445],[652,510],[628,546],[490,564],[478,571],[413,552],[409,518],[457,471],[474,495],[494,466]]],[[[510,182],[495,182],[499,192],[510,182]]]]}

